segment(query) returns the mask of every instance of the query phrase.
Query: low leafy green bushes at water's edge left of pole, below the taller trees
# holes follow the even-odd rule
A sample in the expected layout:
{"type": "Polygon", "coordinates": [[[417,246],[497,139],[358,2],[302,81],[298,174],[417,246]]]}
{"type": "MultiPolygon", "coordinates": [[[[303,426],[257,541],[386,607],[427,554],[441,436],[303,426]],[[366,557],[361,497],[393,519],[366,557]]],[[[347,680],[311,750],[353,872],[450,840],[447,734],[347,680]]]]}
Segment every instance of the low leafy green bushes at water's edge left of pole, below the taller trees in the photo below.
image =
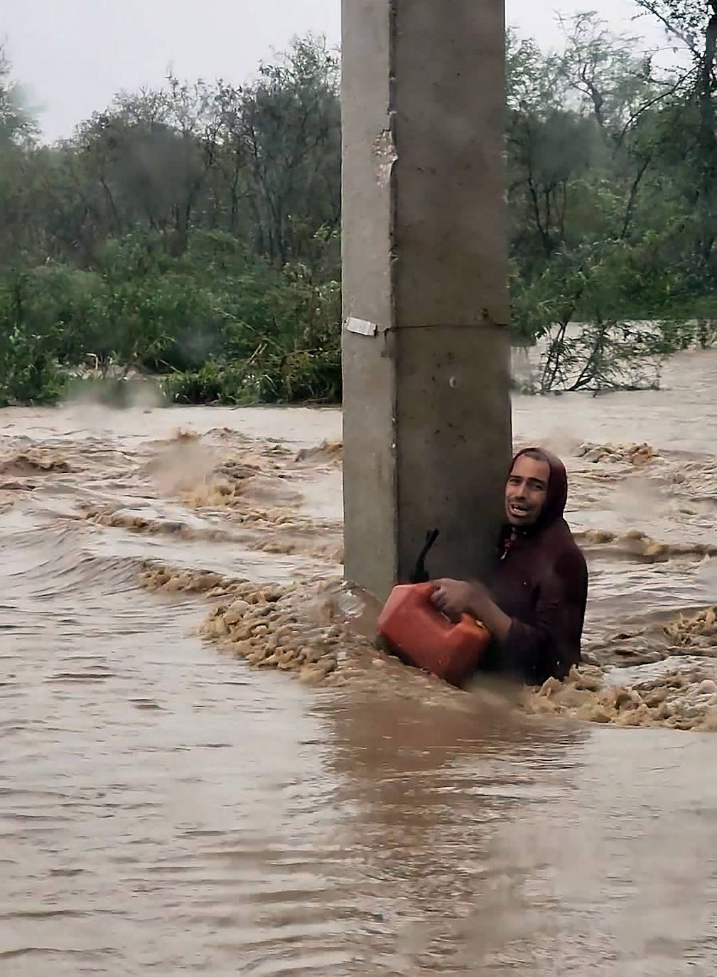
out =
{"type": "Polygon", "coordinates": [[[46,265],[0,275],[6,403],[50,403],[63,371],[164,374],[177,403],[335,402],[340,288],[301,265],[247,258],[197,232],[171,257],[161,235],[106,243],[92,270],[46,265]]]}

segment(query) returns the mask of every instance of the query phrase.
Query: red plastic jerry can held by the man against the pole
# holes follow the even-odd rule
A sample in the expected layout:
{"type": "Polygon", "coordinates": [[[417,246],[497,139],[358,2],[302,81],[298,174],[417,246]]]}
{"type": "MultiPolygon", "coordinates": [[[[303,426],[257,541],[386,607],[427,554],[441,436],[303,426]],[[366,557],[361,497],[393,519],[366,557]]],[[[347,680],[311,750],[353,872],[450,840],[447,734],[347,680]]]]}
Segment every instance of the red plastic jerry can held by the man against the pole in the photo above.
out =
{"type": "Polygon", "coordinates": [[[490,632],[468,615],[450,621],[431,601],[434,590],[434,583],[394,587],[378,630],[408,664],[459,685],[485,655],[490,632]]]}

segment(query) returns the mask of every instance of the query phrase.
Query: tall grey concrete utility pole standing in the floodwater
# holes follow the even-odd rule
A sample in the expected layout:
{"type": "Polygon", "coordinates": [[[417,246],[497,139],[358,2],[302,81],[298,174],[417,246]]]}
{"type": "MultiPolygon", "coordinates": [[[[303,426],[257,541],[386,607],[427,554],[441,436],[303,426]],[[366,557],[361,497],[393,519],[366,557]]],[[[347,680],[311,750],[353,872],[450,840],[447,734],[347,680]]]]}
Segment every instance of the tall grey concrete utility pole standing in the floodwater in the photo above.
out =
{"type": "Polygon", "coordinates": [[[511,442],[503,0],[343,0],[346,576],[481,573],[511,442]]]}

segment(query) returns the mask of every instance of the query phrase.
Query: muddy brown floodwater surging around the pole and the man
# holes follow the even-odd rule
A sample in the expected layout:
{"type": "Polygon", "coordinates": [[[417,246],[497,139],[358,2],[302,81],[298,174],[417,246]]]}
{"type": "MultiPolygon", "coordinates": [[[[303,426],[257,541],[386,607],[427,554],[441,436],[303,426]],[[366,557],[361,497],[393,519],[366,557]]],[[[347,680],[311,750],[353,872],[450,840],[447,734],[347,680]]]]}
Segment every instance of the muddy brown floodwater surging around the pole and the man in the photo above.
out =
{"type": "Polygon", "coordinates": [[[716,371],[516,399],[592,574],[520,696],[360,638],[338,412],[0,411],[3,977],[717,973],[716,371]]]}

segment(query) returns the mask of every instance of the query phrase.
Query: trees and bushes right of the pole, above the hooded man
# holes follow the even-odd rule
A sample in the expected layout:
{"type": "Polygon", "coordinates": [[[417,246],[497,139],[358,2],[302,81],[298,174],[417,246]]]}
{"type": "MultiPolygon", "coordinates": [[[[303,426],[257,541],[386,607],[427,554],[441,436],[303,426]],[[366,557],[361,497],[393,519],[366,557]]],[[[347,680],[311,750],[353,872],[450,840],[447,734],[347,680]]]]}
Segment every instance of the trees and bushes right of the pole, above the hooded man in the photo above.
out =
{"type": "Polygon", "coordinates": [[[699,59],[658,72],[594,14],[563,28],[558,54],[508,44],[514,328],[542,341],[538,390],[654,383],[684,320],[717,318],[714,85],[705,112],[699,59]]]}

